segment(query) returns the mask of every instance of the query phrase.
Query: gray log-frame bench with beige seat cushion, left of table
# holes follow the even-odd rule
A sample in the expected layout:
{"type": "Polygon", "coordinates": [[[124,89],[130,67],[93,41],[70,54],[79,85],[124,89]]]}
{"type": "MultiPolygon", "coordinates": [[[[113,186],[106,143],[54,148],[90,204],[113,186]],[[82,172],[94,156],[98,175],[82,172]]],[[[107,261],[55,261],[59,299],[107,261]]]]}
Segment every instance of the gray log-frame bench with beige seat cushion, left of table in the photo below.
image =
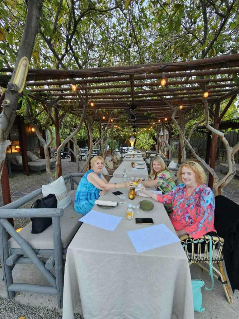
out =
{"type": "Polygon", "coordinates": [[[58,307],[62,308],[63,266],[67,248],[82,223],[82,216],[74,211],[74,183],[84,173],[64,176],[65,183],[70,182],[69,192],[73,202],[63,209],[21,209],[22,205],[42,195],[41,189],[25,195],[17,201],[0,208],[0,255],[7,297],[13,298],[15,291],[35,292],[57,295],[58,307]],[[31,223],[19,233],[7,220],[8,218],[50,217],[52,225],[40,234],[31,234],[31,223]],[[7,240],[7,232],[11,239],[7,240]],[[40,256],[44,256],[40,257],[40,256]],[[20,263],[32,263],[47,279],[50,286],[15,283],[12,278],[13,268],[20,263]],[[55,267],[55,275],[50,270],[55,267]]]}

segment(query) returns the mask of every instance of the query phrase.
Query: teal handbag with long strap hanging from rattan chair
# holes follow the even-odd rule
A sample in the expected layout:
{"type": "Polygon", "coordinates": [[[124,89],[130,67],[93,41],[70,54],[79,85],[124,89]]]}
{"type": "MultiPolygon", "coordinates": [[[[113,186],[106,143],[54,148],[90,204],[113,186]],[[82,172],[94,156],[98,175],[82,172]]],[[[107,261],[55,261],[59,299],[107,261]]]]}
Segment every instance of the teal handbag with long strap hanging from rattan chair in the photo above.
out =
{"type": "MultiPolygon", "coordinates": [[[[210,288],[207,288],[205,286],[205,283],[203,280],[200,279],[192,279],[192,297],[193,297],[193,308],[194,311],[202,312],[205,310],[205,308],[202,307],[202,292],[201,288],[204,287],[206,290],[212,290],[214,286],[214,278],[213,278],[213,263],[212,263],[212,237],[207,235],[209,237],[209,274],[211,276],[212,284],[210,288]]],[[[204,241],[204,239],[200,240],[204,241]]],[[[194,241],[194,243],[197,243],[199,241],[194,241]]],[[[185,245],[183,245],[184,247],[185,245]]]]}

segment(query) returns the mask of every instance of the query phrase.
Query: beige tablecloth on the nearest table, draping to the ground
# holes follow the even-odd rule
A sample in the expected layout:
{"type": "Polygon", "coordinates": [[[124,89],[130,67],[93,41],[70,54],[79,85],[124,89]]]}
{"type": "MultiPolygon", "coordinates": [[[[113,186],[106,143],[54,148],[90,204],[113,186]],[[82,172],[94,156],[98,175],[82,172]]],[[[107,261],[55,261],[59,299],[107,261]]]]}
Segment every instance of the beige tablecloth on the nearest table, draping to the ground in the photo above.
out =
{"type": "MultiPolygon", "coordinates": [[[[112,178],[111,182],[121,179],[112,178]]],[[[128,189],[121,189],[126,195],[128,189]]],[[[117,200],[111,192],[101,197],[117,200]]],[[[129,202],[136,204],[142,197],[129,202]]],[[[136,217],[151,217],[174,232],[162,204],[153,201],[151,211],[136,217]]],[[[180,243],[137,253],[127,231],[148,227],[125,218],[127,204],[113,209],[94,209],[122,220],[111,232],[83,223],[66,256],[63,317],[74,319],[81,300],[84,319],[193,319],[192,287],[188,260],[180,243]]]]}

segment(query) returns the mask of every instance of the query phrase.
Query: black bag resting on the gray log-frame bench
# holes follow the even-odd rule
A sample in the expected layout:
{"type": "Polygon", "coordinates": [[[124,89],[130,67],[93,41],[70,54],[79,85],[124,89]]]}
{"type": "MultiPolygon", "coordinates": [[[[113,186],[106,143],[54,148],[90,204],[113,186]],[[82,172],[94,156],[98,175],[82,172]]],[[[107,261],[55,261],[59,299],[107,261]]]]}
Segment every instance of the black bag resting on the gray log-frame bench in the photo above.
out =
{"type": "MultiPolygon", "coordinates": [[[[57,199],[55,194],[49,194],[46,197],[37,199],[31,208],[57,208],[57,199]]],[[[33,217],[32,234],[40,234],[52,224],[51,217],[33,217]]]]}

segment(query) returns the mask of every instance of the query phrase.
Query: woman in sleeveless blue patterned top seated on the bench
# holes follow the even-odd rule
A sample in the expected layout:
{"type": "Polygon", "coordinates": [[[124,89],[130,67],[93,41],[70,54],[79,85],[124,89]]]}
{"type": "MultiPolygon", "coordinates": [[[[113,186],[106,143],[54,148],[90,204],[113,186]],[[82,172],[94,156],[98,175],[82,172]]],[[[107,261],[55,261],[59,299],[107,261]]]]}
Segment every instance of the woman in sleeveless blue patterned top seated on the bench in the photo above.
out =
{"type": "Polygon", "coordinates": [[[101,174],[104,167],[104,159],[95,156],[91,159],[91,169],[84,174],[76,190],[74,209],[85,215],[95,204],[95,199],[103,196],[110,189],[126,188],[127,182],[109,183],[101,174]]]}

